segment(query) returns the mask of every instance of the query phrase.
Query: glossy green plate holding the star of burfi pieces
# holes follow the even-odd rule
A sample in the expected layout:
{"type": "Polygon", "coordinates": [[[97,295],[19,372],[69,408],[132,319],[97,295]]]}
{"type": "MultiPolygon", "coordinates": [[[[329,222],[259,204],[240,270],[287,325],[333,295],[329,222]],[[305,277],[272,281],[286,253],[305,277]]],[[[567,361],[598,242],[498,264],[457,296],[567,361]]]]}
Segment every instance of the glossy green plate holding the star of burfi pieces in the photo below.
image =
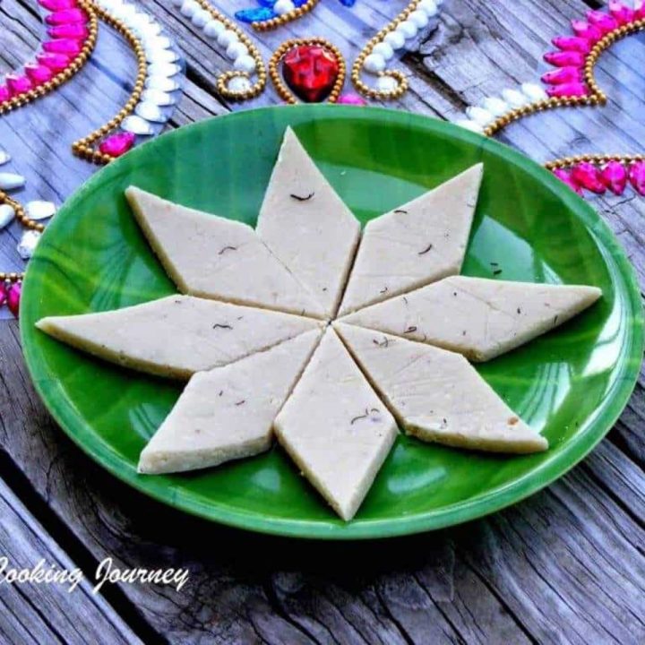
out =
{"type": "Polygon", "coordinates": [[[632,268],[585,202],[500,143],[371,107],[273,107],[222,116],[165,134],[101,170],[47,227],[27,272],[21,329],[27,365],[47,408],[110,472],[204,518],[306,538],[438,529],[536,492],[572,468],[615,423],[643,350],[632,268]],[[400,436],[347,524],[279,447],[193,474],[137,474],[139,453],[181,385],[92,359],[48,338],[34,323],[45,315],[103,311],[174,293],[130,214],[125,187],[136,184],[254,224],[287,125],[363,222],[484,161],[463,273],[491,277],[499,269],[505,280],[603,289],[602,300],[571,323],[477,368],[546,435],[548,452],[498,457],[400,436]]]}

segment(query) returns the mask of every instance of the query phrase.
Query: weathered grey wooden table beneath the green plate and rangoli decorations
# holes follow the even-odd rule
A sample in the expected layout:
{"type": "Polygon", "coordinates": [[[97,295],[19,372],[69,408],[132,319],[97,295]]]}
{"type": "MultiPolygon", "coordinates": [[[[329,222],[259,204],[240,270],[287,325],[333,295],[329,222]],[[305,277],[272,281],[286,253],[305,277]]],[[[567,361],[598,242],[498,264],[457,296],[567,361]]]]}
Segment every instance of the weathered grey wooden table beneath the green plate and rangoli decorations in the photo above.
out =
{"type": "MultiPolygon", "coordinates": [[[[144,0],[185,52],[185,96],[170,127],[246,106],[215,91],[228,68],[219,48],[172,9],[144,0]]],[[[219,0],[232,13],[252,0],[219,0]]],[[[397,107],[451,119],[470,103],[538,77],[548,41],[595,0],[446,0],[400,64],[411,90],[397,107]]],[[[268,58],[283,39],[323,35],[351,60],[404,5],[323,0],[314,14],[262,35],[268,58]]],[[[39,42],[34,0],[2,0],[0,71],[39,42]]],[[[607,107],[531,117],[502,139],[544,161],[645,148],[645,40],[606,54],[607,107]]],[[[87,67],[54,95],[0,119],[0,143],[29,178],[20,196],[62,202],[96,168],[69,143],[126,99],[133,56],[108,29],[87,67]]],[[[254,105],[274,103],[268,91],[254,105]]],[[[217,151],[213,150],[215,154],[217,151]]],[[[645,284],[645,200],[598,198],[645,284]]],[[[0,241],[0,265],[20,267],[19,229],[0,241]]],[[[70,249],[73,253],[73,249],[70,249]]],[[[4,311],[6,309],[4,308],[4,311]]],[[[645,377],[598,449],[545,491],[484,520],[414,538],[314,544],[244,534],[195,520],[137,494],[56,427],[25,372],[18,325],[0,321],[0,556],[81,567],[86,581],[0,585],[0,638],[10,642],[637,643],[645,641],[645,377]],[[187,567],[177,593],[154,585],[91,587],[97,564],[187,567]]]]}

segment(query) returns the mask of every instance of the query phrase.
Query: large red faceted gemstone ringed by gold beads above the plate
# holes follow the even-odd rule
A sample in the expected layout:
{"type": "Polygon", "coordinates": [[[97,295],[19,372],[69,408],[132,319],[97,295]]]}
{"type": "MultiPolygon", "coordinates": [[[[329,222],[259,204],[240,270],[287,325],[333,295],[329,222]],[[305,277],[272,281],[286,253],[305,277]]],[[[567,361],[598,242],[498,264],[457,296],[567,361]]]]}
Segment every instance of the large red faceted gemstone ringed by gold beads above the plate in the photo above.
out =
{"type": "Polygon", "coordinates": [[[282,75],[289,88],[306,103],[326,99],[339,75],[339,62],[321,45],[300,45],[282,60],[282,75]]]}

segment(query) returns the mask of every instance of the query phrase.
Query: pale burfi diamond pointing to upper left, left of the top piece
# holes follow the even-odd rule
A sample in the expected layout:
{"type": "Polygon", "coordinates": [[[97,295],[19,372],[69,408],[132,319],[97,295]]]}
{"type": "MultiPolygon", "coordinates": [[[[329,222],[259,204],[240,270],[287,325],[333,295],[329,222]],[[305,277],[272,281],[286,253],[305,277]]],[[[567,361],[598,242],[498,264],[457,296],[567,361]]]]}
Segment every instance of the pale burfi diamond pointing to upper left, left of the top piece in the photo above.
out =
{"type": "Polygon", "coordinates": [[[324,317],[320,305],[253,228],[130,186],[133,213],[182,293],[324,317]]]}

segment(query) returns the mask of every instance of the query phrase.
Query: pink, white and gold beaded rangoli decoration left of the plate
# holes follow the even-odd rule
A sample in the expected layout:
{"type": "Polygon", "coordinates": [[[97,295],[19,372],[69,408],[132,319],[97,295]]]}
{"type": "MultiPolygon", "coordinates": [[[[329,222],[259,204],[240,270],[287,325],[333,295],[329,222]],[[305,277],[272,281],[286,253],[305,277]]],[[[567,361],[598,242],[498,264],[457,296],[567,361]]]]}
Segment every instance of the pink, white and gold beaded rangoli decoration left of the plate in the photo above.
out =
{"type": "MultiPolygon", "coordinates": [[[[89,60],[96,44],[99,21],[119,32],[137,56],[138,73],[125,106],[105,125],[73,142],[75,155],[104,164],[133,147],[137,137],[159,132],[178,100],[182,62],[171,39],[149,13],[121,0],[38,0],[44,13],[47,39],[22,71],[9,73],[0,83],[0,115],[25,106],[69,81],[89,60]]],[[[0,150],[0,164],[10,160],[0,150]]],[[[0,173],[0,229],[17,219],[26,230],[17,245],[28,260],[45,226],[41,220],[56,213],[52,202],[22,206],[7,191],[22,188],[25,178],[0,173]]],[[[22,272],[0,272],[0,306],[18,315],[22,272]]]]}

